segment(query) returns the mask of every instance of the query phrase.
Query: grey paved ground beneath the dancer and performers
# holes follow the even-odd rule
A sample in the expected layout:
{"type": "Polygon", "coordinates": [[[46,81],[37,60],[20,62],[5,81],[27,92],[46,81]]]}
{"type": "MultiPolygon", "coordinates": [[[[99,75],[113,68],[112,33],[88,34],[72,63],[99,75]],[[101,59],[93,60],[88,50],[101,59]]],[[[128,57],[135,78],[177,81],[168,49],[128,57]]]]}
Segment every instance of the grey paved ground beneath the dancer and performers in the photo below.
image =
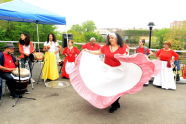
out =
{"type": "MultiPolygon", "coordinates": [[[[37,73],[34,74],[37,76],[37,73]]],[[[31,91],[32,93],[26,96],[37,100],[22,99],[14,108],[14,100],[8,96],[3,97],[0,124],[186,123],[186,84],[178,84],[176,91],[150,85],[137,94],[122,96],[121,109],[113,114],[108,113],[108,109],[94,108],[71,86],[54,89],[39,83],[35,84],[35,89],[31,91]]]]}

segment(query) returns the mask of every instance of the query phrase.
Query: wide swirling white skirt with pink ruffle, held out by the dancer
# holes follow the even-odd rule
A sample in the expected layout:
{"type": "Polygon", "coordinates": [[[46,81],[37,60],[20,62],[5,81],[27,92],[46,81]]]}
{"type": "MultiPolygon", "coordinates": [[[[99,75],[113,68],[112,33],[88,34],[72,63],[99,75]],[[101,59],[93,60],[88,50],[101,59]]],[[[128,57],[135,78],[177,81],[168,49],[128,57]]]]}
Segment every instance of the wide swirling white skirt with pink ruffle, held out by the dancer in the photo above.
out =
{"type": "Polygon", "coordinates": [[[99,55],[82,52],[76,59],[70,81],[77,93],[93,106],[103,109],[124,94],[134,94],[158,73],[160,61],[143,54],[116,55],[121,65],[106,65],[99,55]],[[156,63],[156,64],[155,64],[156,63]]]}

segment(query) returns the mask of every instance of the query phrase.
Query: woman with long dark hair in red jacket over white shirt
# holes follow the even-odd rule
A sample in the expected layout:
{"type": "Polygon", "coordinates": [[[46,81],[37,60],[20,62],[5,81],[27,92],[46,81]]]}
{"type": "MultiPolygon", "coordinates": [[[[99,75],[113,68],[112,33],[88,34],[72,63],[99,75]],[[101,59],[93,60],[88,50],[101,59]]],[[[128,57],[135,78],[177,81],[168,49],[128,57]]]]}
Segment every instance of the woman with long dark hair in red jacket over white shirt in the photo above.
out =
{"type": "Polygon", "coordinates": [[[19,52],[21,54],[21,67],[25,68],[25,63],[28,61],[30,71],[32,72],[32,62],[29,55],[35,51],[33,43],[30,41],[30,36],[26,33],[21,33],[19,40],[19,52]]]}

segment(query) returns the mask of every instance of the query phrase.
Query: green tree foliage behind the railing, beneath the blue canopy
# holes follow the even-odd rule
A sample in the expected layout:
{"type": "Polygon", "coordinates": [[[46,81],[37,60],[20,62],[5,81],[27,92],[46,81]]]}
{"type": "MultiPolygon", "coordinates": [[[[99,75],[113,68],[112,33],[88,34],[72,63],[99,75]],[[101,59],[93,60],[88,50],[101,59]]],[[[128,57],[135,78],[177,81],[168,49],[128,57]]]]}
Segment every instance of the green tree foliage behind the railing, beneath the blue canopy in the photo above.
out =
{"type": "MultiPolygon", "coordinates": [[[[53,25],[39,24],[40,41],[46,41],[49,33],[55,33],[56,27],[53,25]]],[[[0,40],[17,41],[22,32],[28,33],[32,41],[37,41],[37,32],[35,23],[1,21],[0,40]]]]}

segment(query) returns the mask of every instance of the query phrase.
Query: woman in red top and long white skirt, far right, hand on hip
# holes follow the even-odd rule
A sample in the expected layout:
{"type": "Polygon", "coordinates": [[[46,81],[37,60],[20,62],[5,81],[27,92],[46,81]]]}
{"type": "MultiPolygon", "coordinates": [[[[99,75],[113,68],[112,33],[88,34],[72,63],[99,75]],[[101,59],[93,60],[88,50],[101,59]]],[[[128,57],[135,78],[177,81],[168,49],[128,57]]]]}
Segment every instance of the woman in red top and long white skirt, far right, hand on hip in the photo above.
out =
{"type": "Polygon", "coordinates": [[[163,49],[160,49],[156,53],[157,58],[162,61],[162,69],[160,73],[154,78],[153,84],[160,86],[163,89],[175,90],[176,82],[174,80],[172,64],[175,60],[179,59],[179,55],[170,48],[170,42],[165,42],[163,47],[163,49]]]}

